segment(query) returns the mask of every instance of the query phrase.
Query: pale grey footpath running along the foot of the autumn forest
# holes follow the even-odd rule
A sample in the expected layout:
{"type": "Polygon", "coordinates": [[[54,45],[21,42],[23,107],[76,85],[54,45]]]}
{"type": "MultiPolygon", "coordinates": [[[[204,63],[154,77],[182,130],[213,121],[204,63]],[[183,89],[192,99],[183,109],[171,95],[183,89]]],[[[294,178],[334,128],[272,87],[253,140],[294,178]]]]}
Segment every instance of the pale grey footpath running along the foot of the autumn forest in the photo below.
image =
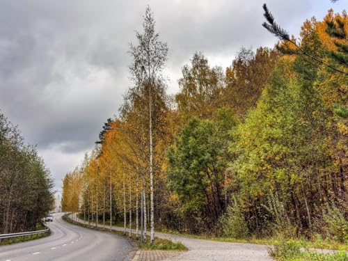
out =
{"type": "MultiPolygon", "coordinates": [[[[81,223],[83,220],[79,219],[81,223]]],[[[98,225],[103,227],[102,225],[98,225]]],[[[110,226],[105,226],[110,228],[110,226]]],[[[113,230],[123,231],[123,228],[113,226],[113,230]]],[[[267,261],[273,260],[267,253],[267,246],[258,244],[228,243],[217,242],[206,239],[195,239],[191,237],[183,237],[180,235],[171,235],[156,232],[156,237],[170,239],[173,242],[182,242],[189,251],[183,252],[174,258],[166,260],[184,261],[184,260],[200,260],[200,261],[267,261]]]]}

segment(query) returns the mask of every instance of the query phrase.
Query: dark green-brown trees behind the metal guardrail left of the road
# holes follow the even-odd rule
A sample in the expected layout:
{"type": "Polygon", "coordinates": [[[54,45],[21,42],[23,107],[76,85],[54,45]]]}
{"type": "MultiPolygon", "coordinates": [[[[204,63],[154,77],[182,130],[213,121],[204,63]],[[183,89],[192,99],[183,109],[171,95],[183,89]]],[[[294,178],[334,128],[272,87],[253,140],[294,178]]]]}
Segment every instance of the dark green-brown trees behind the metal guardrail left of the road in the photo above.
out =
{"type": "Polygon", "coordinates": [[[52,188],[35,147],[0,113],[0,233],[35,230],[54,205],[52,188]]]}

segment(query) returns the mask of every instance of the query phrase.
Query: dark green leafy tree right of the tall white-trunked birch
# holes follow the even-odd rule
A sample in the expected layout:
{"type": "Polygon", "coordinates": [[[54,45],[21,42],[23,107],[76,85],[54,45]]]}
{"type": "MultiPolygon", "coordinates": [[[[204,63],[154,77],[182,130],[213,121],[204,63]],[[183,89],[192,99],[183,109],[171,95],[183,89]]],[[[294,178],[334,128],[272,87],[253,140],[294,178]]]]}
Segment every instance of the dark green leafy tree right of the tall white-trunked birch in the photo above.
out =
{"type": "Polygon", "coordinates": [[[228,131],[236,124],[228,109],[220,111],[216,122],[192,118],[168,150],[168,184],[193,232],[203,226],[201,222],[213,228],[226,208],[228,131]]]}

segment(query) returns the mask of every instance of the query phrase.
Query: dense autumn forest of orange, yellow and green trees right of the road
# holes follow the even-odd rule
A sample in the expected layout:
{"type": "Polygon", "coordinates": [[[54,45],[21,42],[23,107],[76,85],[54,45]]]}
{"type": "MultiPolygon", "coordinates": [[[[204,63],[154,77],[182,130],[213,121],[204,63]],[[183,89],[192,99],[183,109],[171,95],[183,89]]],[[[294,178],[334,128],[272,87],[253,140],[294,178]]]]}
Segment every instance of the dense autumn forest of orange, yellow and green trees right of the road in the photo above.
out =
{"type": "Polygon", "coordinates": [[[150,227],[347,242],[347,13],[306,20],[299,40],[267,6],[264,17],[273,49],[242,47],[226,70],[196,52],[171,96],[148,8],[129,51],[133,87],[65,175],[63,210],[142,237],[150,227]]]}

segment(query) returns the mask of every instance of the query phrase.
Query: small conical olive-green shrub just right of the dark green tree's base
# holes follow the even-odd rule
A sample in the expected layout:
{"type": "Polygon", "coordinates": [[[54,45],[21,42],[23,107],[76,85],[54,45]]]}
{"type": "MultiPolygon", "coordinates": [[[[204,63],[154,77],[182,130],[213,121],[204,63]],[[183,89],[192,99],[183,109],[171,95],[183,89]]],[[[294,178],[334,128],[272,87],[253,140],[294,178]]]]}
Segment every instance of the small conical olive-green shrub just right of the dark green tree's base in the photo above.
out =
{"type": "Polygon", "coordinates": [[[226,213],[221,216],[220,223],[224,236],[235,239],[248,237],[248,226],[235,198],[228,205],[226,213]]]}

